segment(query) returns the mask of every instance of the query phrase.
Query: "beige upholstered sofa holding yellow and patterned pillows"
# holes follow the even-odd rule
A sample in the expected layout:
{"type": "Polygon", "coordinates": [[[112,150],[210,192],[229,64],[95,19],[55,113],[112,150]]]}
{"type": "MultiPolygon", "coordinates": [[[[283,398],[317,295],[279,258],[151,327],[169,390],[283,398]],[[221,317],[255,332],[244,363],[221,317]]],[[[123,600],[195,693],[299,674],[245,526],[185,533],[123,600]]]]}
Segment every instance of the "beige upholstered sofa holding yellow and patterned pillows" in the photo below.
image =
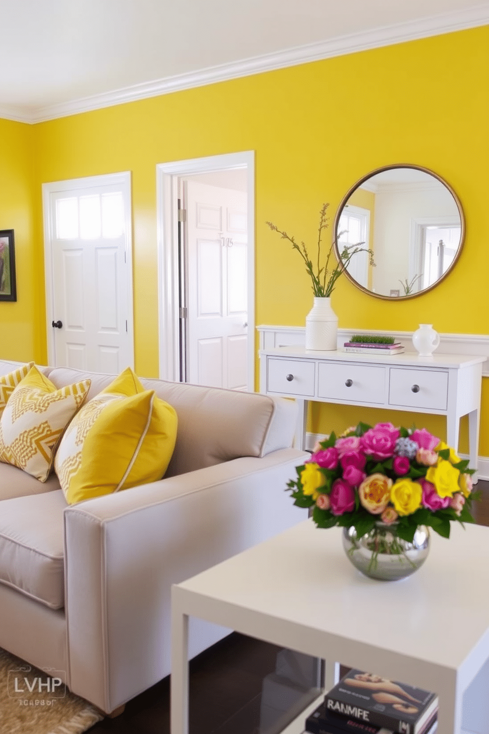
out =
{"type": "MultiPolygon", "coordinates": [[[[91,378],[88,399],[114,379],[43,371],[58,388],[91,378]]],[[[284,491],[306,456],[292,401],[142,382],[178,415],[161,481],[68,506],[55,474],[0,463],[0,647],[106,713],[169,674],[172,584],[307,515],[284,491]]],[[[192,619],[190,656],[227,633],[192,619]]]]}

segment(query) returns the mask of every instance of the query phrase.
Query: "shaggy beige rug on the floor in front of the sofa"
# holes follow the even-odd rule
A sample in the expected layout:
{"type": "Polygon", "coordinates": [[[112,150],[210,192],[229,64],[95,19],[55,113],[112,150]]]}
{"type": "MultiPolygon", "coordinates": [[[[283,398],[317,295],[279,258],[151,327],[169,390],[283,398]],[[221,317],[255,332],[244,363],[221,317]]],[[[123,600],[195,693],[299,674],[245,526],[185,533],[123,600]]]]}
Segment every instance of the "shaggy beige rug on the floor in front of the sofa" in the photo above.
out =
{"type": "Polygon", "coordinates": [[[103,713],[45,672],[0,648],[0,734],[78,734],[103,713]]]}

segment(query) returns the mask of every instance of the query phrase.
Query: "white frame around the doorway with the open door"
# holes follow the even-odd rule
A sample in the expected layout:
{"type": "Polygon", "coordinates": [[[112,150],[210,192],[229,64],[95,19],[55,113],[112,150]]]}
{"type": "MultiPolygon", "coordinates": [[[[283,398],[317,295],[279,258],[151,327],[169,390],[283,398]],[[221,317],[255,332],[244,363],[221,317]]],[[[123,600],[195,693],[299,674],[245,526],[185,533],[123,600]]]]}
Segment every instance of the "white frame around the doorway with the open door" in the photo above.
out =
{"type": "Polygon", "coordinates": [[[178,306],[177,178],[232,168],[246,168],[248,197],[248,379],[254,392],[254,150],[194,158],[156,166],[158,226],[158,355],[160,378],[180,379],[178,306]]]}

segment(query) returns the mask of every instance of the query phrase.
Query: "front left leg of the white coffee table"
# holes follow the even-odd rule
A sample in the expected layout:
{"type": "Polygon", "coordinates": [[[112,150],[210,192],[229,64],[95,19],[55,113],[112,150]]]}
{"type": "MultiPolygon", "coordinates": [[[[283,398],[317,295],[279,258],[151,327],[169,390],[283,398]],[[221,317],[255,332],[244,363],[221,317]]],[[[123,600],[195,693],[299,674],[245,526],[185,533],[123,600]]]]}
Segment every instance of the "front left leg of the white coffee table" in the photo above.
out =
{"type": "Polygon", "coordinates": [[[188,734],[188,614],[181,611],[177,589],[172,588],[172,675],[170,676],[170,731],[188,734]]]}

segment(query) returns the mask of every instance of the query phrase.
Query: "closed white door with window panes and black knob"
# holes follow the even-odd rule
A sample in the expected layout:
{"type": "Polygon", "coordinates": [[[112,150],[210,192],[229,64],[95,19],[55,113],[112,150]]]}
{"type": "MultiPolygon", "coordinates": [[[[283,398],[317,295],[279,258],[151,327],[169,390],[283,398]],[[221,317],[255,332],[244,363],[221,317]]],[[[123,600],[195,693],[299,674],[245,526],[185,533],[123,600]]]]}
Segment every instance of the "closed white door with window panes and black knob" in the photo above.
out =
{"type": "Polygon", "coordinates": [[[133,366],[130,175],[43,186],[49,362],[133,366]]]}

